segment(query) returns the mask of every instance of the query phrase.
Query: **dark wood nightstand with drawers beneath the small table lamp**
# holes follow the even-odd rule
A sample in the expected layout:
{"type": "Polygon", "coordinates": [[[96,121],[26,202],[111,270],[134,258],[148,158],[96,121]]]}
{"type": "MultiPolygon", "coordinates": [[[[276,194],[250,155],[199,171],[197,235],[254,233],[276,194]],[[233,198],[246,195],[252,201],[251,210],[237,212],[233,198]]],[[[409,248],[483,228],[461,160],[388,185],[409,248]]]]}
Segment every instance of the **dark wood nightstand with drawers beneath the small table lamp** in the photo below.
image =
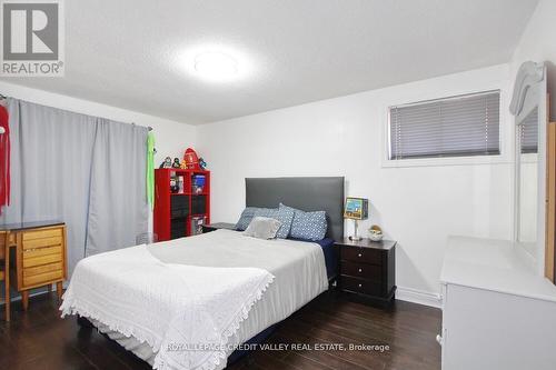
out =
{"type": "Polygon", "coordinates": [[[389,304],[396,291],[396,242],[344,238],[336,246],[340,252],[339,289],[369,302],[389,304]]]}

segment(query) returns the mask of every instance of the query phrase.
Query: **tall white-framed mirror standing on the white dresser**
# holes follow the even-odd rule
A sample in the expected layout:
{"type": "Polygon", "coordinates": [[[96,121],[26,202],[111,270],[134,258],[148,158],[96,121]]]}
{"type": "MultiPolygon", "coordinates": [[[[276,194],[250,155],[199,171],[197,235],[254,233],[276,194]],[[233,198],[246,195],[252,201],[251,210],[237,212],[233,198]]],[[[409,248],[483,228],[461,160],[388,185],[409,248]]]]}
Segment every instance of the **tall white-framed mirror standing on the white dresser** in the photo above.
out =
{"type": "MultiPolygon", "coordinates": [[[[556,159],[547,157],[546,91],[545,64],[524,62],[517,71],[509,104],[516,129],[514,240],[517,250],[525,251],[524,261],[540,276],[547,276],[545,262],[549,259],[545,256],[552,256],[550,248],[556,244],[556,222],[547,223],[556,214],[556,194],[552,188],[547,191],[547,181],[555,174],[547,167],[547,159],[556,159]]],[[[550,146],[554,142],[556,139],[550,146]]]]}

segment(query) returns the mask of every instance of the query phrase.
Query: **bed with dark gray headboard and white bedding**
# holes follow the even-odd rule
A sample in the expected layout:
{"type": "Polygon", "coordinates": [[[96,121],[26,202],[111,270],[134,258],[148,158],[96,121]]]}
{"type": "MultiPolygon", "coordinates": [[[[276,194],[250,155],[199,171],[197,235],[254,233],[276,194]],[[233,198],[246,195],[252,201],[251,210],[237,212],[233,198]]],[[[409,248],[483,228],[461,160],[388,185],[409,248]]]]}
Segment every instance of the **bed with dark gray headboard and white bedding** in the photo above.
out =
{"type": "Polygon", "coordinates": [[[247,207],[280,202],[325,210],[328,242],[217,230],[97,254],[76,268],[62,314],[86,317],[157,369],[225,368],[335,277],[344,178],[246,179],[247,207]]]}

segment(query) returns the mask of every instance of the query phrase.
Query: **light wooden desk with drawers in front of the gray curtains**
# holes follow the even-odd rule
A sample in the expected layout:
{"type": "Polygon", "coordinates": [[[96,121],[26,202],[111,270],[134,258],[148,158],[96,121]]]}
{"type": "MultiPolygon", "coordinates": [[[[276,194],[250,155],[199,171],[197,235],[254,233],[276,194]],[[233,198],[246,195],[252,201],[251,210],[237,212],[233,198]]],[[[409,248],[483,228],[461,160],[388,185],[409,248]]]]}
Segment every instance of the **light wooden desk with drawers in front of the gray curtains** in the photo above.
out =
{"type": "Polygon", "coordinates": [[[59,221],[22,222],[0,227],[8,231],[8,251],[14,260],[12,281],[21,293],[23,309],[29,304],[29,290],[53,283],[58,297],[67,278],[66,224],[59,221]]]}

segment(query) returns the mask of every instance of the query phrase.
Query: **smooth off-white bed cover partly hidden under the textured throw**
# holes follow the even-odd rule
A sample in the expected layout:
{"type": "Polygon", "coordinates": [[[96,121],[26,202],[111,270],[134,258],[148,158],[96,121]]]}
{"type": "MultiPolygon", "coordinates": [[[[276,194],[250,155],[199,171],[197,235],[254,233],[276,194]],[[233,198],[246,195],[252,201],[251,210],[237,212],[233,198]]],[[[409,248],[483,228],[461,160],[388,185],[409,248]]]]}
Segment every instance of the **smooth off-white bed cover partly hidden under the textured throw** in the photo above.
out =
{"type": "MultiPolygon", "coordinates": [[[[324,244],[331,250],[334,242],[324,244]]],[[[152,256],[165,263],[255,267],[275,276],[262,299],[254,306],[231,338],[230,343],[236,346],[282,321],[328,288],[325,248],[316,242],[254,239],[231,230],[217,230],[148,247],[152,256]]],[[[127,350],[153,363],[156,353],[147,343],[112,331],[101,322],[93,321],[93,324],[127,350]]],[[[231,352],[232,347],[228,354],[231,352]]]]}

